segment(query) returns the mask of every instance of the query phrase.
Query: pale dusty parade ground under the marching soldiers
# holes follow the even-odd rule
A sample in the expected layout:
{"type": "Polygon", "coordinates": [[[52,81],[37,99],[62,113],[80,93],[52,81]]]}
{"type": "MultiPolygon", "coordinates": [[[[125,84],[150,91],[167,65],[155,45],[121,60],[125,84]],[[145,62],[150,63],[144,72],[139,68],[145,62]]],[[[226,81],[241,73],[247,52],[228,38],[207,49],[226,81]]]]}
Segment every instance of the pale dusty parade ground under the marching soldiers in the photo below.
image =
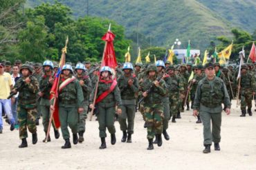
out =
{"type": "MultiPolygon", "coordinates": [[[[254,102],[253,102],[254,105],[254,102]]],[[[0,134],[1,169],[256,169],[256,113],[240,118],[240,109],[232,101],[230,116],[223,112],[221,126],[221,151],[203,154],[203,125],[196,124],[192,110],[181,114],[182,119],[170,123],[167,130],[170,140],[163,139],[163,146],[154,145],[147,151],[146,129],[140,113],[136,113],[135,133],[132,143],[122,143],[122,132],[116,125],[116,145],[110,144],[100,150],[98,122],[86,121],[85,142],[61,149],[64,140],[43,143],[42,119],[37,127],[39,141],[32,145],[31,134],[28,148],[19,149],[19,131],[10,131],[4,123],[0,134]]],[[[71,138],[72,140],[72,138],[71,138]]]]}

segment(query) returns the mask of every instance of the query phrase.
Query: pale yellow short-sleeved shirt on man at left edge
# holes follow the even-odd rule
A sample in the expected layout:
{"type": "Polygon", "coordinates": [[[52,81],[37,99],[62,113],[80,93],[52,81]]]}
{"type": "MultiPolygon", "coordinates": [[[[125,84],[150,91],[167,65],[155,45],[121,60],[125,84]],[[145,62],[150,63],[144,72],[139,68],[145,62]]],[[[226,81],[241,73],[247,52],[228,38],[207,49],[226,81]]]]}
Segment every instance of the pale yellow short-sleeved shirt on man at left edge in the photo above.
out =
{"type": "Polygon", "coordinates": [[[3,72],[0,75],[0,99],[7,99],[10,95],[10,86],[12,85],[12,78],[9,73],[3,72]]]}

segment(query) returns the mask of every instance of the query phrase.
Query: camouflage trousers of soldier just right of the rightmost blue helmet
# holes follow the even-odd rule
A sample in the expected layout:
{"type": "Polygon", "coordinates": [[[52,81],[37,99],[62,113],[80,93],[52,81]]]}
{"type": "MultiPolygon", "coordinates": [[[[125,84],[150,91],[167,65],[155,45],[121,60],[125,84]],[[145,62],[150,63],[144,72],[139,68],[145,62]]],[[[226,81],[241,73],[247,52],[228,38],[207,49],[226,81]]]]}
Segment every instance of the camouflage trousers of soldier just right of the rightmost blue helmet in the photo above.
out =
{"type": "Polygon", "coordinates": [[[180,107],[179,92],[170,92],[169,95],[170,116],[177,116],[180,107]]]}

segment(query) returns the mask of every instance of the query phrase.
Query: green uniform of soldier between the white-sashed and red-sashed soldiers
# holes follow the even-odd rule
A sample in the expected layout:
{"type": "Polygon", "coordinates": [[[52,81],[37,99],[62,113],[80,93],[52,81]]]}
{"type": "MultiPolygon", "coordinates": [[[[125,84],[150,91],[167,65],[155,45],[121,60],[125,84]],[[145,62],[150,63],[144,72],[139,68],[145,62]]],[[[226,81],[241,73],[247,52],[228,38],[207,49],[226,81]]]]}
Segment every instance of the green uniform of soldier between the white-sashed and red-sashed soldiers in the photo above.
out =
{"type": "Polygon", "coordinates": [[[85,131],[85,119],[87,117],[88,113],[88,107],[89,107],[89,98],[91,94],[91,90],[93,89],[91,85],[91,78],[86,75],[86,73],[83,73],[81,76],[76,75],[76,78],[78,81],[84,81],[84,85],[81,85],[82,92],[84,96],[84,101],[82,103],[82,106],[84,108],[84,111],[82,111],[81,114],[79,114],[79,122],[78,122],[78,134],[79,134],[79,142],[84,141],[84,131],[85,131]]]}

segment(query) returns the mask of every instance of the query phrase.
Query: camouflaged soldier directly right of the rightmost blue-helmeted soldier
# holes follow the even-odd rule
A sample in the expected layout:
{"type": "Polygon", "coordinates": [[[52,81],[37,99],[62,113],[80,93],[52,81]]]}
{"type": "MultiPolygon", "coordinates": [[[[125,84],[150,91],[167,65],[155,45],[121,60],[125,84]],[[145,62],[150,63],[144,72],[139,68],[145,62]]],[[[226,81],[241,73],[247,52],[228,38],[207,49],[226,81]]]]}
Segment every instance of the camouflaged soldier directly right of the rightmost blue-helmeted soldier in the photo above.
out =
{"type": "Polygon", "coordinates": [[[176,123],[176,116],[179,113],[179,94],[183,92],[184,87],[181,83],[181,78],[174,72],[174,66],[170,65],[166,70],[167,74],[170,76],[170,87],[169,89],[169,105],[170,105],[170,117],[172,116],[172,123],[176,123]]]}

